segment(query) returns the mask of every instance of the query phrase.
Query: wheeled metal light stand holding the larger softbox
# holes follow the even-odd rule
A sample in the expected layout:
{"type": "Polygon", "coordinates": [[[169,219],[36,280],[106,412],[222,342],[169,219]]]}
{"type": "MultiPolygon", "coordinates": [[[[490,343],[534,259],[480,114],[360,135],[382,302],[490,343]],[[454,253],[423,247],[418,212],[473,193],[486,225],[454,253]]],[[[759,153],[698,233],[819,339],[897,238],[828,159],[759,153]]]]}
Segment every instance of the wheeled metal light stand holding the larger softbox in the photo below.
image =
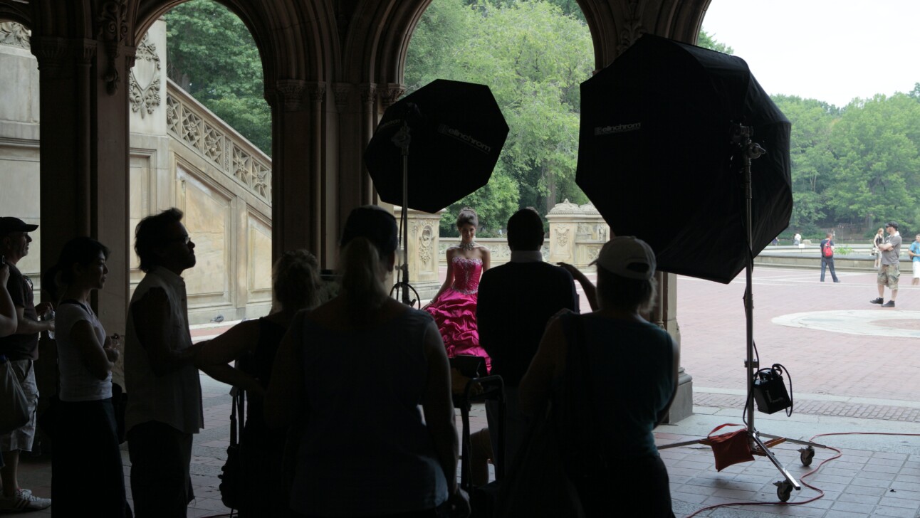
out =
{"type": "MultiPolygon", "coordinates": [[[[819,448],[826,448],[827,446],[819,443],[799,441],[797,439],[788,439],[786,437],[761,433],[757,431],[753,424],[753,381],[754,374],[760,368],[760,361],[755,357],[755,345],[753,342],[753,190],[751,187],[751,160],[759,157],[760,155],[763,155],[765,150],[759,144],[756,144],[751,140],[751,135],[753,135],[753,128],[750,126],[735,124],[731,127],[730,130],[731,143],[739,147],[742,155],[744,227],[746,231],[745,238],[747,239],[747,258],[745,268],[747,287],[744,290],[744,317],[746,323],[745,331],[747,349],[747,358],[744,361],[744,366],[747,369],[747,399],[745,400],[744,405],[744,410],[746,413],[744,424],[747,426],[747,434],[751,446],[751,453],[753,455],[762,455],[770,459],[770,462],[773,463],[773,466],[776,466],[776,469],[778,469],[779,472],[783,475],[783,478],[785,478],[784,480],[775,482],[774,485],[776,486],[776,497],[779,498],[780,501],[788,501],[792,494],[792,489],[796,489],[798,491],[801,490],[801,486],[799,486],[799,482],[794,477],[792,477],[792,474],[788,472],[786,467],[783,466],[781,462],[779,462],[779,459],[776,458],[776,455],[773,455],[773,452],[770,451],[770,447],[779,443],[785,443],[787,441],[789,443],[806,445],[806,448],[799,448],[799,459],[801,460],[803,466],[810,466],[811,459],[814,458],[814,448],[816,446],[819,448]],[[767,437],[770,440],[764,442],[761,440],[761,436],[767,437]]],[[[711,443],[708,443],[707,439],[697,439],[696,441],[684,441],[683,443],[665,444],[659,446],[658,449],[664,450],[700,443],[711,445],[711,443]]]]}

